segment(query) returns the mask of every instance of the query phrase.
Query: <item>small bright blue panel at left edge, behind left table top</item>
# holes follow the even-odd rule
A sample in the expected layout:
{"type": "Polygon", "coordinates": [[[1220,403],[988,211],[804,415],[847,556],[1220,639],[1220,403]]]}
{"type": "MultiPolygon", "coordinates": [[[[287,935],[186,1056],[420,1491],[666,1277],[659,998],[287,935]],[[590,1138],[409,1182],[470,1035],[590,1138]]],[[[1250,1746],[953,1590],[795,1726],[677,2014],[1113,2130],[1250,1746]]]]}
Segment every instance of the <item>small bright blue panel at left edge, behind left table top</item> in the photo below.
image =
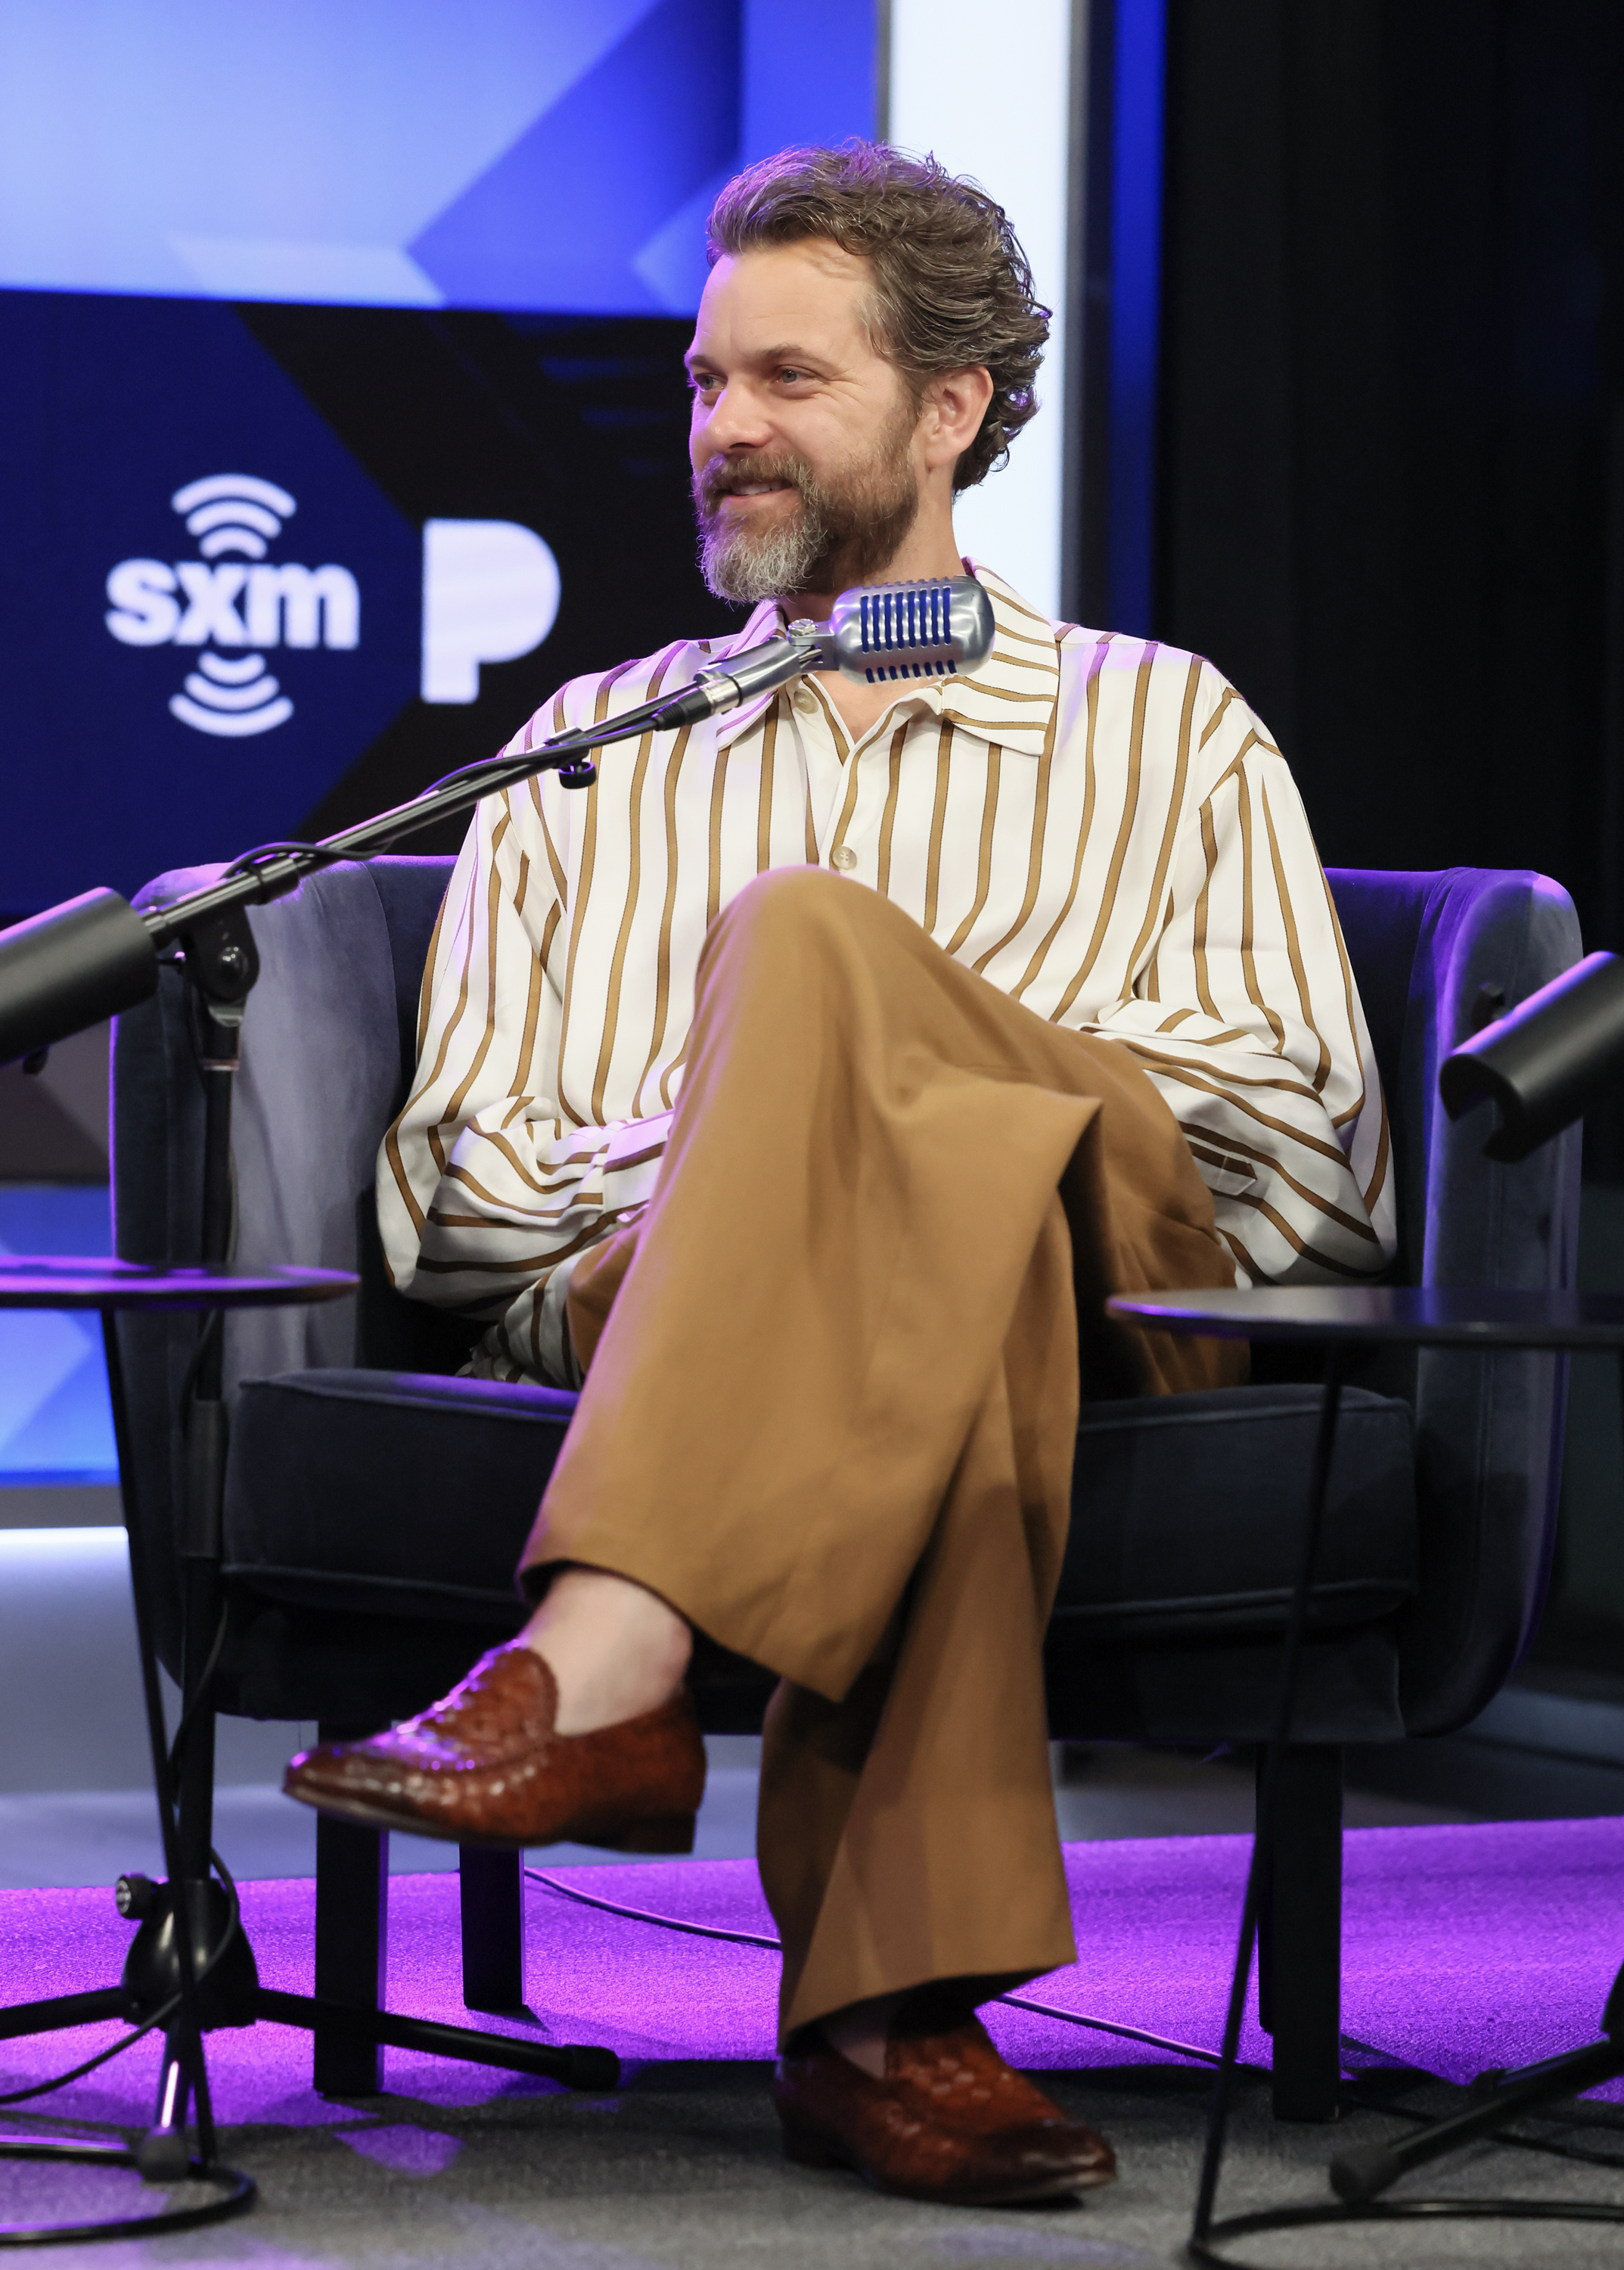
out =
{"type": "MultiPolygon", "coordinates": [[[[107,1189],[0,1185],[0,1253],[111,1251],[107,1189]]],[[[0,1310],[0,1487],[116,1480],[100,1319],[0,1310]]]]}

